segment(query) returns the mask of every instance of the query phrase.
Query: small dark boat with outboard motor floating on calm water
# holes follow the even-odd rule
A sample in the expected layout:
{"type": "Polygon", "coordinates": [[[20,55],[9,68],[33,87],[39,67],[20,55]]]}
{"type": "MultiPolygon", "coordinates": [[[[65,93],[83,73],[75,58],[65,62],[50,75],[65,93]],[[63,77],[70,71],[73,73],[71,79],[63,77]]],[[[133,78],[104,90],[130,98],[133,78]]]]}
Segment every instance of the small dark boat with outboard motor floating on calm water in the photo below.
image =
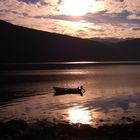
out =
{"type": "Polygon", "coordinates": [[[61,87],[53,87],[55,90],[54,96],[57,95],[64,95],[64,94],[80,94],[83,96],[83,93],[85,92],[85,89],[83,86],[80,88],[61,88],[61,87]]]}

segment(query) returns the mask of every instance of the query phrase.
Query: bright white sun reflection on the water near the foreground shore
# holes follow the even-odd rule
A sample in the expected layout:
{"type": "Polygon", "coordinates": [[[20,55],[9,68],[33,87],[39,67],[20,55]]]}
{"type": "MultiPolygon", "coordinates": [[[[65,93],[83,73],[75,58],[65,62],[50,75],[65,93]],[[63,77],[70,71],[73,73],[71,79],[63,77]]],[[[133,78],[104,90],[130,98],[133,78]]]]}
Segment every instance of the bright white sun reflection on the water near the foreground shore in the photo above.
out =
{"type": "Polygon", "coordinates": [[[90,110],[82,108],[82,106],[73,107],[68,110],[69,121],[72,124],[92,124],[90,110]]]}

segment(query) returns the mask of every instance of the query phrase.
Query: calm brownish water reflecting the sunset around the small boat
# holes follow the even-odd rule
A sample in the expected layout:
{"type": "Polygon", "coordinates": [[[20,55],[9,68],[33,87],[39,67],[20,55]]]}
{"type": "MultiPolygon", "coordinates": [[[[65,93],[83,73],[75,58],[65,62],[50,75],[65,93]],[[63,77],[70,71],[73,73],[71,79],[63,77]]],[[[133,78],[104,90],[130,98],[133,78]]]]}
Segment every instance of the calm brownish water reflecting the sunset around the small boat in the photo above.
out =
{"type": "Polygon", "coordinates": [[[113,63],[7,64],[0,70],[0,120],[48,120],[92,126],[140,119],[140,65],[113,63]],[[80,95],[53,96],[54,86],[80,95]]]}

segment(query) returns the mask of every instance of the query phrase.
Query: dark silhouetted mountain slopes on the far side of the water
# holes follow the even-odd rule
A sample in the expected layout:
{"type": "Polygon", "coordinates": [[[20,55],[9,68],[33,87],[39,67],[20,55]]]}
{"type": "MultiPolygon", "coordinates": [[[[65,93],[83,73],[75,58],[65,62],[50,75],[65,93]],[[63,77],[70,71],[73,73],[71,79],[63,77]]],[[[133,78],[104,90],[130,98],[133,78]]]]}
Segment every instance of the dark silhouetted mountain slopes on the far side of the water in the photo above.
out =
{"type": "Polygon", "coordinates": [[[0,36],[0,62],[140,60],[140,39],[110,45],[20,27],[2,20],[0,36]]]}

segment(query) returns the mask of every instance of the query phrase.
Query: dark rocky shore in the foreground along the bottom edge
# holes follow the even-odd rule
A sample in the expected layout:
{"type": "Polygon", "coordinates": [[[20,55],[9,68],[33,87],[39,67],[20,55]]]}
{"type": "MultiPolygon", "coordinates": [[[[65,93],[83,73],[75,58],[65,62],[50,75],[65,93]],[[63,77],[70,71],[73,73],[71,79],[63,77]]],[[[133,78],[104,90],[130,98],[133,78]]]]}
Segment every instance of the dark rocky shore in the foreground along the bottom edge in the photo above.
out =
{"type": "Polygon", "coordinates": [[[24,120],[0,123],[0,140],[140,140],[140,121],[93,128],[83,124],[56,124],[24,120]]]}

